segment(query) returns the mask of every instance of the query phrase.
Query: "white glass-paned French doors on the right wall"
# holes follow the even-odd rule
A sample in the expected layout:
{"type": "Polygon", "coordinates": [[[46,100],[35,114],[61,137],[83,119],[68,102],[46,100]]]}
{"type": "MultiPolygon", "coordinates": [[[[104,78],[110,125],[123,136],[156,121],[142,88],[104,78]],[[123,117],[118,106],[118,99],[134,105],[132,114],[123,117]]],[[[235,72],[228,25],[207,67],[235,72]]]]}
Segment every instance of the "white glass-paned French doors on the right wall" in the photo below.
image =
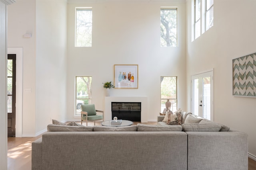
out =
{"type": "Polygon", "coordinates": [[[192,113],[213,121],[213,71],[196,74],[192,82],[192,113]]]}

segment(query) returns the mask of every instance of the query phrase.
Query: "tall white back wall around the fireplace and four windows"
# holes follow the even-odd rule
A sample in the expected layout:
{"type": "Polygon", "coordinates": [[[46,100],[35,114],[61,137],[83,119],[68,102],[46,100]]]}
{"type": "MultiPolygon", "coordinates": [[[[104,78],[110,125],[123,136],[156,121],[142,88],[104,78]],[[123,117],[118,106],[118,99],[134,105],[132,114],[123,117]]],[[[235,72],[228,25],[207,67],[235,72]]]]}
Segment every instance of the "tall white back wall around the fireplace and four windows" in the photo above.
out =
{"type": "Polygon", "coordinates": [[[114,82],[114,64],[138,64],[138,89],[112,96],[147,96],[148,121],[160,108],[160,76],[178,76],[178,107],[186,109],[186,4],[68,4],[68,120],[74,118],[75,76],[92,76],[92,103],[104,109],[103,82],[114,82]],[[74,47],[75,7],[92,7],[92,47],[74,47]],[[160,47],[160,7],[178,7],[178,47],[160,47]]]}

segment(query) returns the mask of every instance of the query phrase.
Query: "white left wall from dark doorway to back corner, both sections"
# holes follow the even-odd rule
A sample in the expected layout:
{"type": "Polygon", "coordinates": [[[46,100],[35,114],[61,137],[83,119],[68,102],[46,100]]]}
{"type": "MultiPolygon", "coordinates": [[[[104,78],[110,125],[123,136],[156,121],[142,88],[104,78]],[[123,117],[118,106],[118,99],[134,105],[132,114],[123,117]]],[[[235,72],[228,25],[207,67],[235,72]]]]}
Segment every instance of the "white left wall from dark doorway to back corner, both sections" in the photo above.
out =
{"type": "Polygon", "coordinates": [[[23,93],[22,137],[66,119],[66,13],[65,0],[18,0],[8,9],[8,47],[23,48],[23,89],[32,89],[23,93]]]}

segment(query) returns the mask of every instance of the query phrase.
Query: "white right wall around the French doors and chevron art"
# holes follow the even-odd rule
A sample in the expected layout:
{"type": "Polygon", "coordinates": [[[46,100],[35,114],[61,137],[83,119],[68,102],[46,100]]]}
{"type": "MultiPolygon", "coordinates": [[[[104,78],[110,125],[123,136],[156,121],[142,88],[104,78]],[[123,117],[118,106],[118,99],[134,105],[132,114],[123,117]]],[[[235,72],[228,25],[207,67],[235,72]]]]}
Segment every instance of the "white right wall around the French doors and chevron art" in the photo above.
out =
{"type": "Polygon", "coordinates": [[[214,26],[191,42],[191,0],[187,1],[187,95],[191,75],[214,68],[214,121],[248,133],[256,155],[256,98],[232,96],[232,59],[256,52],[256,1],[215,0],[214,26]]]}

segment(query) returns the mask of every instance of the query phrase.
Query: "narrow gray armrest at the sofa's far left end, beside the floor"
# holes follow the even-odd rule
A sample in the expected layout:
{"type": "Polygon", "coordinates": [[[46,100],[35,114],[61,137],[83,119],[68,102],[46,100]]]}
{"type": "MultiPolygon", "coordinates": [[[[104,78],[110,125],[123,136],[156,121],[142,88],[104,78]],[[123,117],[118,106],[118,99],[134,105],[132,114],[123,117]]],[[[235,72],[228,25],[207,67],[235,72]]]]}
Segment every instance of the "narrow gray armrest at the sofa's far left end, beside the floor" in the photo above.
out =
{"type": "Polygon", "coordinates": [[[42,167],[42,137],[32,142],[32,170],[41,170],[42,167]]]}

